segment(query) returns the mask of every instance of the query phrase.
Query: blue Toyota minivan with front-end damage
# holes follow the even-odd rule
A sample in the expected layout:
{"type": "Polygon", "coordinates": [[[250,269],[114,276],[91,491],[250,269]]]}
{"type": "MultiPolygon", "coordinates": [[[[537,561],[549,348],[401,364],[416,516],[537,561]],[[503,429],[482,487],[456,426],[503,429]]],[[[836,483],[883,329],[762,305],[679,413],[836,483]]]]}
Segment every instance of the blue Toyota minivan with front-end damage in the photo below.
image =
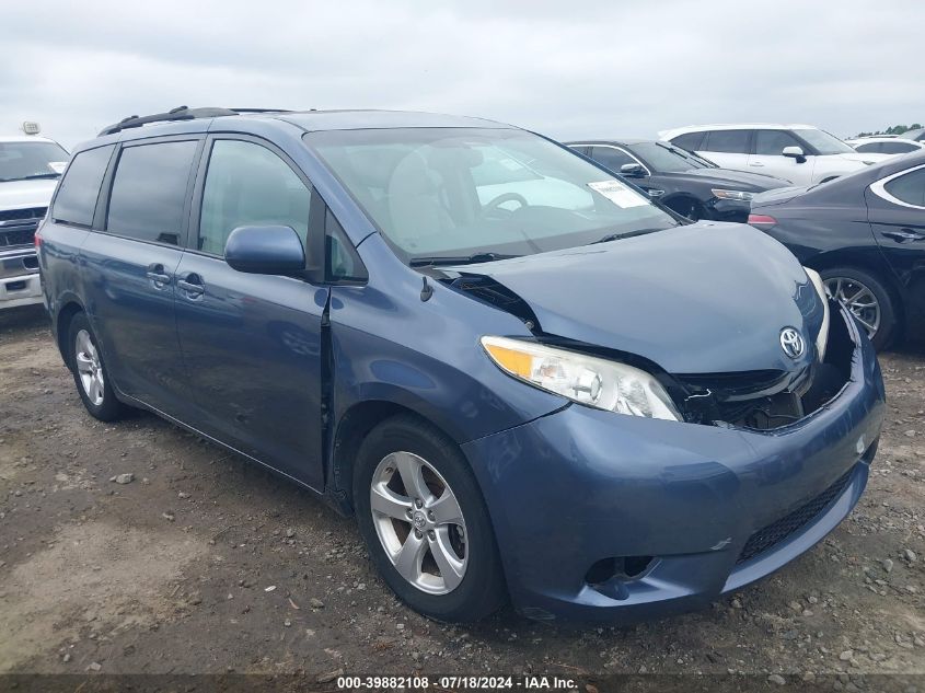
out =
{"type": "Polygon", "coordinates": [[[91,415],[154,412],[355,515],[441,621],[706,604],[830,532],[877,450],[874,350],[814,272],[498,123],[127,118],[36,243],[91,415]]]}

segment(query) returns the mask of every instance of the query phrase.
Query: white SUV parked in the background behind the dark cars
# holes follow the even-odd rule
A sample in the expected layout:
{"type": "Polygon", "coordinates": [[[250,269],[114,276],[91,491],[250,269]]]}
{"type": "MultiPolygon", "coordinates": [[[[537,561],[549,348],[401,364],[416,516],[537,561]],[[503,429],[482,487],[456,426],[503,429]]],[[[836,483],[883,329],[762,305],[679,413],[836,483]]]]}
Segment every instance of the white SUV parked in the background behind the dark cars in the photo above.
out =
{"type": "Polygon", "coordinates": [[[795,185],[830,181],[887,158],[858,153],[811,125],[691,125],[658,135],[724,169],[766,173],[795,185]]]}

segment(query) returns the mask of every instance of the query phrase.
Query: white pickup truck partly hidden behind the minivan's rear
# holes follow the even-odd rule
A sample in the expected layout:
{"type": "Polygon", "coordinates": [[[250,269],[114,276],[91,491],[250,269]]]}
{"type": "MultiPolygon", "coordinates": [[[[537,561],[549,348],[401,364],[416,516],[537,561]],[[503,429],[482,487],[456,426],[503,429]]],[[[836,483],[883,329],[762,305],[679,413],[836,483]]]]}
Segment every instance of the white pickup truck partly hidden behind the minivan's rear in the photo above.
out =
{"type": "Polygon", "coordinates": [[[69,157],[45,137],[0,137],[0,310],[42,302],[35,229],[69,157]]]}

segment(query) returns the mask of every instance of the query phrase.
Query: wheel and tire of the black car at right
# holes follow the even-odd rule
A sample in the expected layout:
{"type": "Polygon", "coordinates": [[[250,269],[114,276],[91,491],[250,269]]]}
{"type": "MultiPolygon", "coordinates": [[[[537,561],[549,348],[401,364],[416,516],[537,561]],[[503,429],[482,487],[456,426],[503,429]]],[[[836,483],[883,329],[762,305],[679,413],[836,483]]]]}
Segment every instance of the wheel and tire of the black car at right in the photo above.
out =
{"type": "Polygon", "coordinates": [[[898,308],[887,286],[866,269],[830,267],[819,273],[825,290],[847,305],[878,351],[892,344],[898,308]]]}

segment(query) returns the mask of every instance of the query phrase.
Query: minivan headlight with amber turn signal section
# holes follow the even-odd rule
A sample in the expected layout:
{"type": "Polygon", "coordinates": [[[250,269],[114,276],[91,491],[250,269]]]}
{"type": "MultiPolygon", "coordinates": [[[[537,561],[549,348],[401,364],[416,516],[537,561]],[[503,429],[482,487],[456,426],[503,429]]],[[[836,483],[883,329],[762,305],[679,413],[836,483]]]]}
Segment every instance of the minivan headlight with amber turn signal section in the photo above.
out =
{"type": "Polygon", "coordinates": [[[638,368],[505,337],[482,337],[501,370],[542,390],[599,409],[680,421],[664,388],[638,368]]]}

